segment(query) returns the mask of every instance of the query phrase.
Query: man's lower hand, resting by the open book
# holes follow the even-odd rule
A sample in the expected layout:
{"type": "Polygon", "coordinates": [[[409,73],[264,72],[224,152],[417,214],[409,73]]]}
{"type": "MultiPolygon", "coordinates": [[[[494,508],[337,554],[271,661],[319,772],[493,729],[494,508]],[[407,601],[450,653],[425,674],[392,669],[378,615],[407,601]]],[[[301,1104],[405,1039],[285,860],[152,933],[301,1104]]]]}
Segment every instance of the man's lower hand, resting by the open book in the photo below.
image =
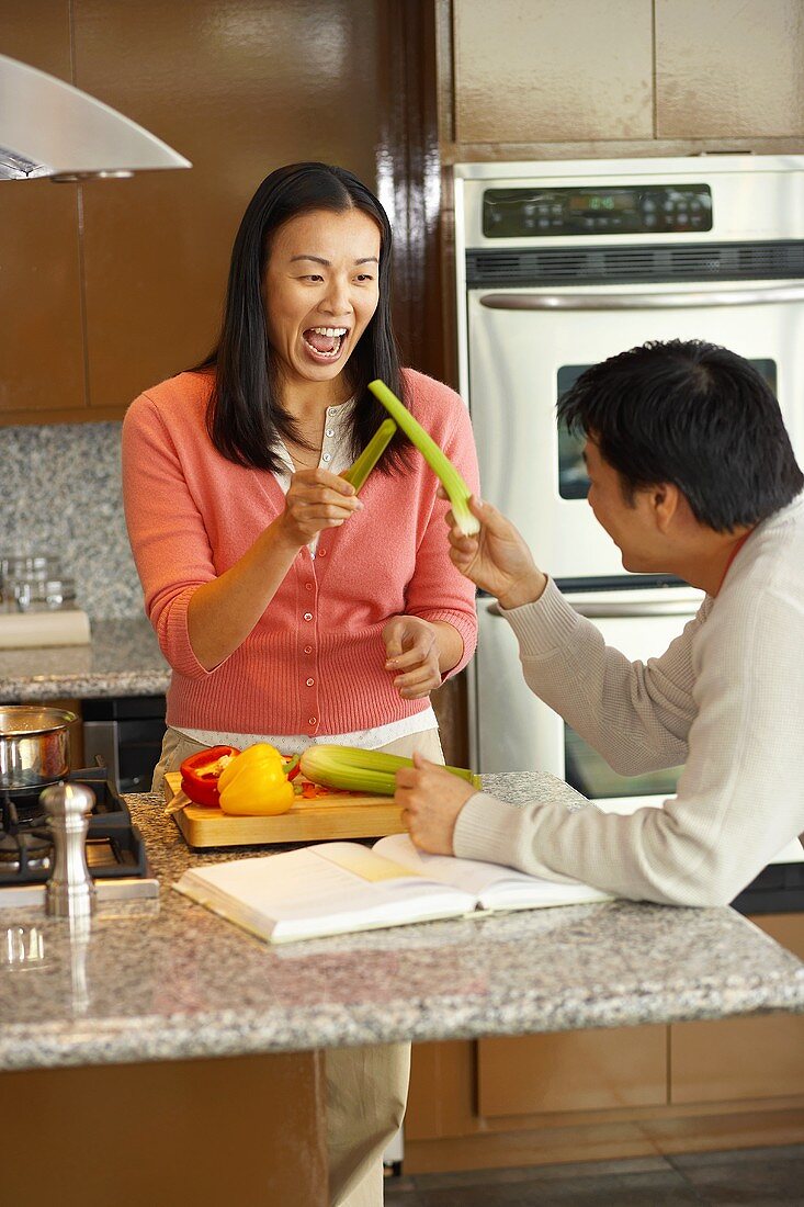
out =
{"type": "Polygon", "coordinates": [[[453,855],[458,815],[477,788],[438,763],[413,756],[413,766],[396,772],[394,799],[414,844],[430,855],[453,855]]]}

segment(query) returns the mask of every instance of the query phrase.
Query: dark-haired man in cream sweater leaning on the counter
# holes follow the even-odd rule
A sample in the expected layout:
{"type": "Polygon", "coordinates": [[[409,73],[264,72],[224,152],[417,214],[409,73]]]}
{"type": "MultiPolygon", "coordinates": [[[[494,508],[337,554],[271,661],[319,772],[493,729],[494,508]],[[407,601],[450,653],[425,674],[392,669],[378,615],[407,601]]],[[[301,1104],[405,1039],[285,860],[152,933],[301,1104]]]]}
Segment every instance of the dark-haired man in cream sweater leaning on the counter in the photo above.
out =
{"type": "Polygon", "coordinates": [[[703,588],[698,614],[660,657],[630,663],[490,505],[472,500],[476,537],[448,515],[450,555],[497,596],[529,687],[623,775],[684,763],[677,797],[631,816],[523,809],[416,759],[397,800],[425,851],[726,904],[804,829],[804,476],[762,375],[711,344],[614,356],[558,412],[585,435],[589,505],[625,570],[703,588]]]}

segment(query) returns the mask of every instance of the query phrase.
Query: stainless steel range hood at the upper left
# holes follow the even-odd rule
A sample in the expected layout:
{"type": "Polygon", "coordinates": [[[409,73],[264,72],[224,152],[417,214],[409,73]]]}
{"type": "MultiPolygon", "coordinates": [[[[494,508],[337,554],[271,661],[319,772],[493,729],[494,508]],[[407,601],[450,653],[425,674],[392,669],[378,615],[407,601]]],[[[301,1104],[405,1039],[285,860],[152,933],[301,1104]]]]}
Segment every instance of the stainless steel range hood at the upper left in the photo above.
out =
{"type": "Polygon", "coordinates": [[[192,168],[161,139],[56,76],[0,54],[0,180],[192,168]]]}

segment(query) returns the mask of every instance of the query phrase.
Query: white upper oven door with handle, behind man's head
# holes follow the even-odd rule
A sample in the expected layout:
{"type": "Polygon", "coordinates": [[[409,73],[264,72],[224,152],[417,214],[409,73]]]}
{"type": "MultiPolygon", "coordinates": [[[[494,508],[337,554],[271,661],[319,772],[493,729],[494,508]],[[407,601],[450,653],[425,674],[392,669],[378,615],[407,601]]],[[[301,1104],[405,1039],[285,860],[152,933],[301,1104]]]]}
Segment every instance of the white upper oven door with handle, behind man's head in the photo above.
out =
{"type": "MultiPolygon", "coordinates": [[[[484,497],[557,578],[622,575],[585,496],[582,442],[559,432],[558,397],[589,365],[648,339],[704,339],[753,361],[804,461],[804,285],[470,290],[468,404],[484,497]]],[[[656,647],[654,647],[656,648],[656,647]]]]}

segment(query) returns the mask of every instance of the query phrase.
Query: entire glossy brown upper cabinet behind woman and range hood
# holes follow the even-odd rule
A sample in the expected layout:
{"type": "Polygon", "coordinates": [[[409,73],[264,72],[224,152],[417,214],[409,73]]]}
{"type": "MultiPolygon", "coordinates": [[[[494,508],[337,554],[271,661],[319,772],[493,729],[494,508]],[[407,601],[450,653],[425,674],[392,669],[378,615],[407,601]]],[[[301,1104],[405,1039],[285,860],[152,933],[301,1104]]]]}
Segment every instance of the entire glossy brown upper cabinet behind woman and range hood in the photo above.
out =
{"type": "Polygon", "coordinates": [[[212,345],[260,181],[325,159],[375,185],[378,0],[7,0],[2,51],[186,154],[124,181],[0,185],[0,425],[121,419],[212,345]],[[303,48],[303,49],[302,49],[303,48]]]}

